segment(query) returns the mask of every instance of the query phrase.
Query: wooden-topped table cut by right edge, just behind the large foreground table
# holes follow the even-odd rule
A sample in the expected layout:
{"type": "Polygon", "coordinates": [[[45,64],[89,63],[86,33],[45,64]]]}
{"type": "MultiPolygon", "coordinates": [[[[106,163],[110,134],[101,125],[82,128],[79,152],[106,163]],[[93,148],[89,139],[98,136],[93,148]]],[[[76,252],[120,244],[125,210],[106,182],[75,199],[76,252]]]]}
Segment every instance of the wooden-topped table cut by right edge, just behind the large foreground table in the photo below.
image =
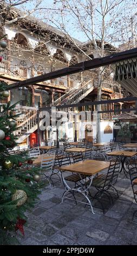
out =
{"type": "MultiPolygon", "coordinates": [[[[122,171],[123,169],[123,172],[125,173],[125,175],[127,174],[127,170],[125,169],[125,160],[126,160],[126,157],[133,157],[136,155],[136,152],[135,151],[112,151],[112,152],[109,152],[107,153],[108,156],[119,156],[120,159],[121,159],[121,170],[120,172],[122,171]]],[[[127,175],[126,175],[127,176],[127,175]]]]}

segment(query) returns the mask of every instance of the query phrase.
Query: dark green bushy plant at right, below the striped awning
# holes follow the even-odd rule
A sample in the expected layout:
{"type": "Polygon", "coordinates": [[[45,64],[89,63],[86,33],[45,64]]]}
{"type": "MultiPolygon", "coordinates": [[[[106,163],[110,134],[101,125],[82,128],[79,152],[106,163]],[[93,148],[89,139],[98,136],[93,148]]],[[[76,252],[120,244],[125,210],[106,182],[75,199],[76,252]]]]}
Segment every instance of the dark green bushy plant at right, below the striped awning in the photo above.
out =
{"type": "Polygon", "coordinates": [[[133,135],[131,130],[129,129],[129,124],[121,124],[121,129],[119,130],[118,135],[116,136],[116,141],[130,143],[132,137],[133,135]]]}

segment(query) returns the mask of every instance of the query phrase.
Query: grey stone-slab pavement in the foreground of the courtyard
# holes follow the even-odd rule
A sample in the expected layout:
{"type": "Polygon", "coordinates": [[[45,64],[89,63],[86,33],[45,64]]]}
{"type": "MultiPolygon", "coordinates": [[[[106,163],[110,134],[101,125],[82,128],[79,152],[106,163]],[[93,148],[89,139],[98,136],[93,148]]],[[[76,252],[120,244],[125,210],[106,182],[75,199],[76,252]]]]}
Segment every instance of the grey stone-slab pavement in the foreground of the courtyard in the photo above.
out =
{"type": "Polygon", "coordinates": [[[65,199],[64,186],[57,182],[45,187],[35,209],[27,214],[25,236],[18,231],[22,245],[136,245],[137,204],[133,200],[131,181],[120,174],[115,187],[120,197],[103,214],[100,207],[92,214],[89,206],[65,199]]]}

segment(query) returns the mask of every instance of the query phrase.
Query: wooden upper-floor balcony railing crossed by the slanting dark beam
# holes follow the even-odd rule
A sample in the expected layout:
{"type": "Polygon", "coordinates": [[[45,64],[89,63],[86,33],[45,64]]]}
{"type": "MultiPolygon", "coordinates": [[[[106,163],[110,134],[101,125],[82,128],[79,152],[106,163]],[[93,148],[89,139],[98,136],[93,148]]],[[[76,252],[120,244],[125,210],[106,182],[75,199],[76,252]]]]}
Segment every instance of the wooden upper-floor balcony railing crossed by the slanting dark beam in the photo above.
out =
{"type": "MultiPolygon", "coordinates": [[[[0,73],[1,74],[8,74],[10,76],[17,76],[21,78],[31,78],[32,77],[32,69],[31,68],[25,68],[23,66],[13,65],[12,63],[8,62],[1,62],[0,63],[0,73]]],[[[44,74],[44,72],[38,72],[34,70],[34,76],[40,76],[44,74]]],[[[79,82],[70,80],[71,88],[77,88],[79,87],[79,82]]],[[[58,77],[53,80],[47,80],[43,81],[44,84],[55,84],[56,86],[63,86],[68,88],[68,80],[64,77],[58,77]]]]}

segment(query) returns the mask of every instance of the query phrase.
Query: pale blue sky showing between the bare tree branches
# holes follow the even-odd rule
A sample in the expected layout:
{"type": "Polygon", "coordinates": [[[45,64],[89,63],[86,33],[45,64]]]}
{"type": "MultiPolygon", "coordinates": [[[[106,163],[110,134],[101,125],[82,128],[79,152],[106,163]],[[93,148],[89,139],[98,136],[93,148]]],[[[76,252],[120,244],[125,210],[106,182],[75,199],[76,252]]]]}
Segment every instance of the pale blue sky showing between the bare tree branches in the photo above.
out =
{"type": "MultiPolygon", "coordinates": [[[[27,3],[25,3],[23,10],[25,10],[25,9],[28,10],[29,9],[31,11],[32,8],[34,7],[34,2],[36,2],[36,1],[38,1],[38,0],[30,0],[27,3]]],[[[54,1],[55,0],[43,0],[41,7],[53,9],[53,8],[56,7],[56,5],[54,4],[54,1]]],[[[96,1],[98,1],[98,0],[96,0],[96,1]]],[[[116,2],[116,0],[114,0],[114,3],[115,2],[116,2]]],[[[127,16],[128,15],[133,15],[136,18],[136,20],[137,20],[137,15],[135,15],[135,13],[137,13],[136,4],[137,4],[136,0],[135,1],[134,0],[123,0],[122,4],[119,5],[118,8],[117,8],[118,12],[119,11],[121,12],[121,15],[119,14],[120,16],[116,17],[117,21],[118,22],[120,21],[120,19],[122,17],[122,11],[123,11],[124,8],[126,10],[126,15],[127,16]],[[129,4],[131,1],[135,2],[135,4],[133,5],[132,9],[128,10],[127,4],[129,4]]],[[[79,7],[79,4],[77,4],[77,6],[79,7]]],[[[20,8],[20,7],[18,6],[18,8],[20,8]]],[[[99,4],[96,5],[96,9],[98,9],[100,11],[99,4]]],[[[116,10],[116,8],[115,8],[115,10],[116,10]]],[[[44,10],[44,11],[41,10],[41,11],[38,12],[38,14],[32,14],[32,15],[37,16],[38,19],[48,23],[49,25],[51,25],[53,27],[56,27],[57,20],[59,19],[58,18],[58,13],[56,13],[56,10],[54,11],[54,19],[56,20],[55,21],[56,24],[50,22],[50,19],[51,19],[50,10],[44,10]]],[[[108,16],[108,20],[110,20],[110,19],[113,20],[113,17],[108,16]]],[[[72,19],[69,13],[67,13],[67,15],[65,16],[64,20],[65,20],[65,23],[66,23],[67,31],[69,32],[69,34],[71,36],[73,36],[73,38],[76,38],[76,39],[78,39],[78,40],[80,40],[82,42],[88,41],[88,39],[89,39],[88,36],[86,36],[86,34],[83,33],[82,30],[80,28],[78,28],[78,26],[74,25],[75,19],[72,19]],[[67,22],[67,20],[68,20],[68,22],[67,22]]],[[[89,22],[89,26],[90,26],[90,19],[89,20],[87,19],[86,22],[89,22]]],[[[121,23],[122,22],[123,21],[121,19],[121,23]]],[[[100,15],[99,15],[99,12],[98,12],[98,13],[96,13],[96,19],[95,19],[95,32],[97,32],[98,34],[99,34],[100,23],[101,23],[101,20],[100,20],[100,15]],[[99,26],[97,26],[97,25],[99,25],[99,26]]],[[[137,22],[136,23],[134,22],[134,25],[135,25],[134,27],[136,28],[137,22]]],[[[127,25],[127,31],[128,32],[125,31],[126,35],[123,34],[123,40],[125,40],[125,39],[128,40],[129,38],[131,38],[131,31],[130,31],[131,28],[129,29],[130,26],[131,26],[131,23],[129,22],[128,25],[127,25]]],[[[114,29],[114,27],[108,27],[106,34],[108,34],[108,35],[109,34],[113,34],[113,29],[114,29]]],[[[118,27],[118,29],[119,29],[119,27],[118,27]]],[[[120,31],[120,33],[122,34],[122,31],[120,31]]],[[[91,37],[91,33],[90,33],[89,37],[91,37]]],[[[119,40],[118,36],[117,36],[117,39],[119,40]]],[[[107,36],[106,36],[106,40],[107,40],[107,36]]],[[[110,40],[110,38],[108,40],[110,40]]],[[[118,46],[122,42],[119,43],[119,42],[114,41],[114,35],[113,35],[113,42],[109,41],[109,43],[112,43],[113,45],[118,46]]]]}

